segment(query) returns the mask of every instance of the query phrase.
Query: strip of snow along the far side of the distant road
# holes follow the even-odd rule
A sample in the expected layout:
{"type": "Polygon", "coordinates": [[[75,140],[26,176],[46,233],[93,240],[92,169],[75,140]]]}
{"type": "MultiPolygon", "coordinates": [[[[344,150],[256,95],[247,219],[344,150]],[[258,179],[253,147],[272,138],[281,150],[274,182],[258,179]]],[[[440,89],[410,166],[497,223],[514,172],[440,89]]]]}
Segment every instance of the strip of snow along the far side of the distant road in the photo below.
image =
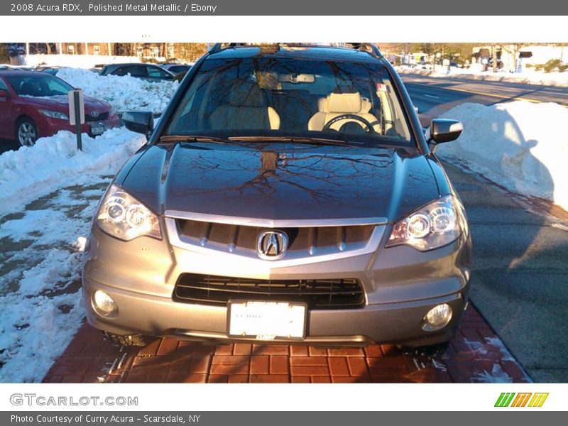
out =
{"type": "Polygon", "coordinates": [[[479,67],[458,68],[437,65],[432,71],[431,67],[423,69],[422,65],[409,67],[408,65],[395,67],[399,74],[427,75],[428,77],[454,77],[466,78],[470,80],[488,80],[496,82],[514,82],[526,84],[542,84],[544,86],[568,87],[568,72],[544,72],[535,71],[528,68],[523,72],[508,71],[481,71],[479,67]]]}

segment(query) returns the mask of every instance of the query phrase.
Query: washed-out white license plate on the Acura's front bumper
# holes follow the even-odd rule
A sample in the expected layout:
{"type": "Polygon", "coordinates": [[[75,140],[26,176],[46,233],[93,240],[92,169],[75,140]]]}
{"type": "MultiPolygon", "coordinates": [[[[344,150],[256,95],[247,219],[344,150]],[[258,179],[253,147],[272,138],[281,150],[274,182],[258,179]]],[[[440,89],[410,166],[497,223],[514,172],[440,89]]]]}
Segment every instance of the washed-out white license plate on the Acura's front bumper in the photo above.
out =
{"type": "Polygon", "coordinates": [[[305,339],[305,303],[234,300],[228,308],[227,329],[231,337],[305,339]]]}

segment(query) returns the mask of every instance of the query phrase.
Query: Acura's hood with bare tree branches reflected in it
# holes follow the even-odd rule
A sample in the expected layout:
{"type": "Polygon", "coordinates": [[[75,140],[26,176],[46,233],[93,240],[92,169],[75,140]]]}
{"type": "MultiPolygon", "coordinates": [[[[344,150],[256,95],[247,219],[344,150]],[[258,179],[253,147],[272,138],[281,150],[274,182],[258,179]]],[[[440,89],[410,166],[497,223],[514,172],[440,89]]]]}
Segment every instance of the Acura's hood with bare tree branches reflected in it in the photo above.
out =
{"type": "Polygon", "coordinates": [[[159,214],[394,221],[439,197],[429,160],[398,149],[178,143],[132,163],[116,183],[159,214]]]}

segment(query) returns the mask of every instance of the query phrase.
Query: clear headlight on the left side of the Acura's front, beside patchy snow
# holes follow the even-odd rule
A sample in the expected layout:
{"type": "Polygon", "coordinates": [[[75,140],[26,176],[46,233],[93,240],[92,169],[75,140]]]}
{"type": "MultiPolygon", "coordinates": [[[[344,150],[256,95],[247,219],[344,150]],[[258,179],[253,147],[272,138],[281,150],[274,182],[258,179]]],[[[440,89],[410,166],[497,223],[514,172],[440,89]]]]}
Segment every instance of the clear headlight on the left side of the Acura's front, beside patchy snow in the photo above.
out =
{"type": "Polygon", "coordinates": [[[158,216],[116,185],[104,196],[96,222],[107,234],[124,241],[141,235],[162,238],[158,216]]]}

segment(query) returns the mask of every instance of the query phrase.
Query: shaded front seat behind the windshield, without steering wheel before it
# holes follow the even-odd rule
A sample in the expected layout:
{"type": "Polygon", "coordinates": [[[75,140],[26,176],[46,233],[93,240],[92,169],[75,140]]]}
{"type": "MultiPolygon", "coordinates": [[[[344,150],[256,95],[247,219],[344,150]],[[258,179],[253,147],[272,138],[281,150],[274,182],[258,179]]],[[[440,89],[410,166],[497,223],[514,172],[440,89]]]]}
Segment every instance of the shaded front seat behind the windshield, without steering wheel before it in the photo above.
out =
{"type": "Polygon", "coordinates": [[[280,129],[280,116],[268,107],[266,94],[253,82],[239,82],[231,88],[227,104],[209,116],[213,130],[280,129]]]}

